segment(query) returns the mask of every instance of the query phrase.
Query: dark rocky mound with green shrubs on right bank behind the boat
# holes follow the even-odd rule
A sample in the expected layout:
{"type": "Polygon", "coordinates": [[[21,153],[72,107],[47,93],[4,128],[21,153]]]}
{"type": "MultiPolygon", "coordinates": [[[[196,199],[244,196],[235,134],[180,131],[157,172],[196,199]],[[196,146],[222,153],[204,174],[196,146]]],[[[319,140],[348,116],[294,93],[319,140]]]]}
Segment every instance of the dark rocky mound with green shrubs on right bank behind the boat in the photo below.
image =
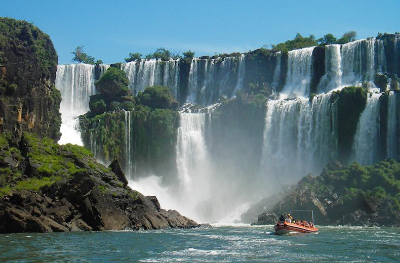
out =
{"type": "MultiPolygon", "coordinates": [[[[301,179],[256,224],[274,224],[278,214],[313,210],[318,225],[400,226],[400,163],[382,161],[374,166],[329,163],[324,171],[301,179]]],[[[301,218],[305,214],[294,214],[301,218]]]]}

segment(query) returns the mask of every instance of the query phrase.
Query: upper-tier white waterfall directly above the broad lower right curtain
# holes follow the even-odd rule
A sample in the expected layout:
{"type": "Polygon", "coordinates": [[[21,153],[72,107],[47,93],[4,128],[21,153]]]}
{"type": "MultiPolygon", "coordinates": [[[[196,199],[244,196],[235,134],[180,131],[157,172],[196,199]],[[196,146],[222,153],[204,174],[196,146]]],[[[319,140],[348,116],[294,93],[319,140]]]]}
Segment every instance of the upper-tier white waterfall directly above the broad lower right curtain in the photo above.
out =
{"type": "Polygon", "coordinates": [[[282,92],[287,97],[308,97],[314,48],[289,51],[288,74],[282,92]]]}

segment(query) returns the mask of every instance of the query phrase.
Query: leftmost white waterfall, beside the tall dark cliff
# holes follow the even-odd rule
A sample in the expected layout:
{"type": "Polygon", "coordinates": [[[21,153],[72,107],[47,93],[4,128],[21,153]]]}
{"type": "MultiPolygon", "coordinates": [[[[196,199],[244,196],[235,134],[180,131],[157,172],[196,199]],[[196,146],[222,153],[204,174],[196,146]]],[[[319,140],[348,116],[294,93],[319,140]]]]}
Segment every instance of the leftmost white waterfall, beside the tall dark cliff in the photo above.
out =
{"type": "Polygon", "coordinates": [[[95,94],[94,65],[58,65],[56,87],[61,91],[62,133],[59,144],[83,145],[77,117],[89,110],[89,97],[95,94]]]}

